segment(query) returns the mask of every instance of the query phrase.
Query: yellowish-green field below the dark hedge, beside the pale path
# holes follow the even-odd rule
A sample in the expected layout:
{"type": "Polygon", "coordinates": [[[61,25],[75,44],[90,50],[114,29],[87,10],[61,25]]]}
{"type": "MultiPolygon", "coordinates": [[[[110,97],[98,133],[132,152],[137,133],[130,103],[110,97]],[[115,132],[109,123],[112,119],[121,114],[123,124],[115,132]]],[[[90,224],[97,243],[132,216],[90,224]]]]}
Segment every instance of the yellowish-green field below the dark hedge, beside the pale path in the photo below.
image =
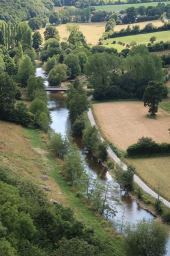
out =
{"type": "MultiPolygon", "coordinates": [[[[170,136],[170,135],[167,135],[170,136]]],[[[138,175],[146,182],[150,188],[158,193],[160,183],[160,193],[163,198],[170,201],[170,157],[152,157],[127,159],[129,164],[136,167],[138,175]]]]}

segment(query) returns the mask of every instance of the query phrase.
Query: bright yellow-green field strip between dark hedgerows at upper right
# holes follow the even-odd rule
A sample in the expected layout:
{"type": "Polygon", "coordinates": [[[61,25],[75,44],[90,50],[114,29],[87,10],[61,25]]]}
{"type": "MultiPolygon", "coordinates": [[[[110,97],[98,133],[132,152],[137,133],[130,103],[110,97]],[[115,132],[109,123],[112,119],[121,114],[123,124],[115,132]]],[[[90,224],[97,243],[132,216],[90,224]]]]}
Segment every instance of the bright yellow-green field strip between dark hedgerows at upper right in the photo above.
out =
{"type": "MultiPolygon", "coordinates": [[[[129,44],[132,41],[137,42],[137,44],[148,44],[150,43],[149,40],[152,36],[156,37],[156,42],[160,42],[163,40],[164,42],[170,41],[170,31],[161,31],[161,32],[154,32],[154,33],[147,33],[147,34],[138,34],[138,35],[128,35],[128,36],[121,36],[111,38],[105,41],[105,43],[112,44],[113,41],[122,42],[125,44],[129,44]]],[[[105,46],[105,45],[104,45],[105,46]]]]}

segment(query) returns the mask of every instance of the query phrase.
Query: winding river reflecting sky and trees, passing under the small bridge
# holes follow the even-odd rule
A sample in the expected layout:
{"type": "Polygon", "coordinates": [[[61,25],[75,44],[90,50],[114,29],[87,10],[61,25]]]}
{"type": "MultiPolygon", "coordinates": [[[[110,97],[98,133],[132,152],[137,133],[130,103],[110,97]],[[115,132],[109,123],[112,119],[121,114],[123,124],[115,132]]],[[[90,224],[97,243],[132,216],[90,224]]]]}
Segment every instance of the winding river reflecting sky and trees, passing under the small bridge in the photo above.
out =
{"type": "MultiPolygon", "coordinates": [[[[45,78],[42,68],[36,69],[36,75],[42,76],[45,78]]],[[[48,82],[45,81],[45,85],[48,85],[48,82]]],[[[66,134],[67,130],[70,129],[70,120],[69,113],[66,109],[62,93],[48,93],[48,106],[50,109],[51,119],[53,123],[51,128],[57,133],[66,134]]],[[[111,202],[116,208],[116,216],[112,218],[113,225],[116,227],[116,223],[121,222],[122,214],[124,214],[124,222],[136,222],[137,220],[145,217],[146,219],[153,219],[151,215],[146,210],[141,209],[136,201],[130,198],[127,193],[123,190],[120,190],[119,184],[115,183],[109,172],[104,168],[97,158],[94,157],[89,151],[87,151],[82,143],[80,137],[74,138],[75,143],[79,146],[81,155],[85,161],[86,170],[93,174],[94,177],[97,177],[100,174],[101,182],[106,183],[111,181],[114,183],[114,186],[117,188],[114,191],[114,197],[117,198],[119,203],[111,202]]],[[[119,227],[116,227],[119,231],[119,227]]],[[[168,253],[166,256],[170,255],[170,241],[167,245],[168,253]]]]}

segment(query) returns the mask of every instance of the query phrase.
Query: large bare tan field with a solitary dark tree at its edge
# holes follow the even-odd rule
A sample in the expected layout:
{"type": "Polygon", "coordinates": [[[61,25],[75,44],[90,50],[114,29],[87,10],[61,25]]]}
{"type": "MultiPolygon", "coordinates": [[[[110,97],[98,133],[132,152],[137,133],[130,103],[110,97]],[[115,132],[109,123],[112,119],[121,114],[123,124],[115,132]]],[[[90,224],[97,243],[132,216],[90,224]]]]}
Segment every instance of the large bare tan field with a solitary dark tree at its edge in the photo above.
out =
{"type": "Polygon", "coordinates": [[[142,136],[156,142],[170,143],[170,114],[159,109],[156,119],[147,117],[148,108],[140,101],[119,101],[94,104],[97,125],[104,137],[118,148],[126,150],[142,136]]]}

